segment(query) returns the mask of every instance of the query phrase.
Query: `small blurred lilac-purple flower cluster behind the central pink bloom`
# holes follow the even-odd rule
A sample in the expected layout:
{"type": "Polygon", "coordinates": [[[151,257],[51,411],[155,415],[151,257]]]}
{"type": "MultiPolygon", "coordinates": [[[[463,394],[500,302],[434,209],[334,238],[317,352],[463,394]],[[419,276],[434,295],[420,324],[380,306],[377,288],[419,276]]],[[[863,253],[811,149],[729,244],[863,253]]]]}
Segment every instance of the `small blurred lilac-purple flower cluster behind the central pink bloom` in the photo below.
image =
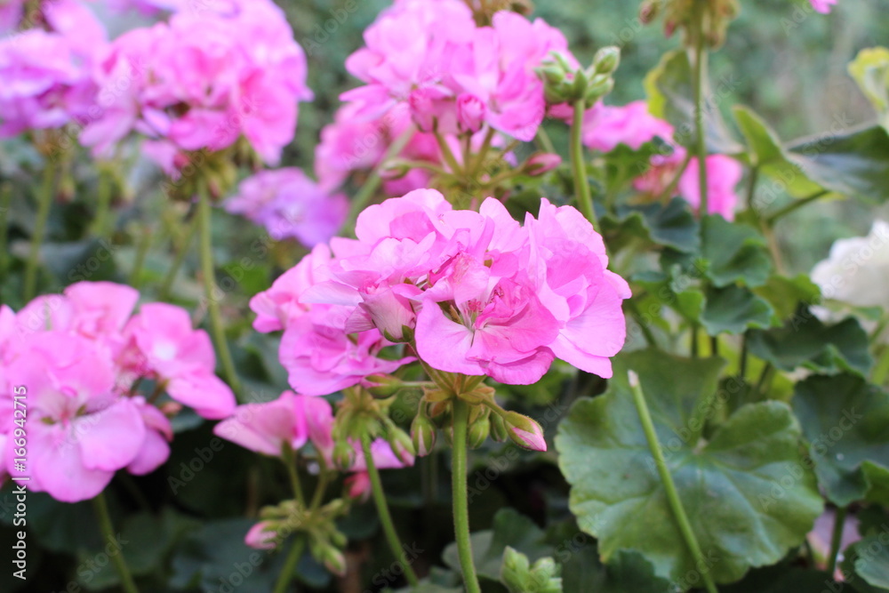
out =
{"type": "Polygon", "coordinates": [[[260,171],[241,181],[225,209],[268,230],[276,241],[298,239],[312,247],[325,243],[348,214],[348,199],[328,194],[295,167],[260,171]]]}

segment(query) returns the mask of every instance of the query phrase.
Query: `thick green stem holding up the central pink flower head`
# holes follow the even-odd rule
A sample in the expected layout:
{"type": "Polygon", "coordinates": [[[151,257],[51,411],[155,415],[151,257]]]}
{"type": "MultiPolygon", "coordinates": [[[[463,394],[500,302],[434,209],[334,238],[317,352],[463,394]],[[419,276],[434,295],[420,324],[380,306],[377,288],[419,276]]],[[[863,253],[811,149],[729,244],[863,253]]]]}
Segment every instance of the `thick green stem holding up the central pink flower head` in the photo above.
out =
{"type": "Polygon", "coordinates": [[[469,404],[461,398],[453,400],[453,528],[457,541],[457,555],[463,572],[463,586],[467,593],[481,593],[472,564],[472,544],[469,540],[469,502],[466,485],[466,433],[469,425],[469,404]]]}

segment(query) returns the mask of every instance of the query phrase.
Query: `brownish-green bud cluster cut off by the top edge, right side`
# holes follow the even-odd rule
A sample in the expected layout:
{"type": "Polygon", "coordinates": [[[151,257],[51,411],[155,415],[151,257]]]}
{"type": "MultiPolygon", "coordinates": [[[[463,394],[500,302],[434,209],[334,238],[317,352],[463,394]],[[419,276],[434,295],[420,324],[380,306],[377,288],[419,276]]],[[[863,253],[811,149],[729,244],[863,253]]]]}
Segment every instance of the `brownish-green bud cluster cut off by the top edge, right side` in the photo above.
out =
{"type": "Polygon", "coordinates": [[[738,0],[645,0],[639,11],[639,19],[648,23],[664,13],[664,34],[672,36],[682,29],[684,43],[695,44],[701,22],[704,43],[711,48],[725,43],[728,24],[738,16],[738,0]]]}

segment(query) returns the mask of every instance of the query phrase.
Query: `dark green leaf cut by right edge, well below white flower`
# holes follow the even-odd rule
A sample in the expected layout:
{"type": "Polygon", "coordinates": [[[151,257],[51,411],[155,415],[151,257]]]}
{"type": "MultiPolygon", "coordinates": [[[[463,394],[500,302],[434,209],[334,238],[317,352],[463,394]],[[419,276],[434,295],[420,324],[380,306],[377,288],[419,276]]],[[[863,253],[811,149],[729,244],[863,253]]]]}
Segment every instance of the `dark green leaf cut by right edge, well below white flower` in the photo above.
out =
{"type": "Polygon", "coordinates": [[[797,383],[793,409],[828,499],[861,501],[869,489],[861,464],[889,468],[889,394],[855,375],[815,375],[797,383]]]}

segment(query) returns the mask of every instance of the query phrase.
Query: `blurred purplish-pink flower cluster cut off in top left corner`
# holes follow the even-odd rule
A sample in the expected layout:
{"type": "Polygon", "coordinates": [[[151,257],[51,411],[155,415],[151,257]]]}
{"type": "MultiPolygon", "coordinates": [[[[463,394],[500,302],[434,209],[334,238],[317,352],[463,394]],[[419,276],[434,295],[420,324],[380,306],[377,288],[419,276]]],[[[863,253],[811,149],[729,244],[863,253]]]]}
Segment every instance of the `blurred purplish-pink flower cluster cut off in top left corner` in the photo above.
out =
{"type": "MultiPolygon", "coordinates": [[[[0,40],[0,138],[60,128],[86,116],[96,85],[92,68],[106,44],[99,20],[76,0],[43,9],[44,28],[0,40]]],[[[0,5],[0,31],[15,28],[22,3],[0,5]]]]}

